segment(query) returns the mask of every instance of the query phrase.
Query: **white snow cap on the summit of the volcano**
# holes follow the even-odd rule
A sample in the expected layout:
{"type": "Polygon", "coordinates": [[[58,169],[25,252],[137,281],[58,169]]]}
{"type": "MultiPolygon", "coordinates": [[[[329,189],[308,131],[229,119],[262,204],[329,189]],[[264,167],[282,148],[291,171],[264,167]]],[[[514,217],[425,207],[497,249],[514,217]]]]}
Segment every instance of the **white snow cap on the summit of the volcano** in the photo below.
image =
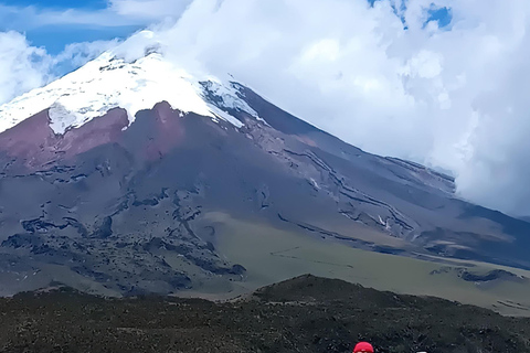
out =
{"type": "MultiPolygon", "coordinates": [[[[149,34],[144,31],[138,35],[149,34]]],[[[235,127],[243,124],[229,109],[243,110],[259,119],[239,97],[235,84],[192,76],[157,52],[134,61],[121,58],[116,52],[106,52],[47,86],[0,106],[0,132],[47,108],[51,127],[61,135],[116,107],[126,109],[132,122],[139,110],[150,109],[162,100],[173,109],[224,119],[235,127]],[[209,99],[208,95],[215,99],[209,99]]]]}

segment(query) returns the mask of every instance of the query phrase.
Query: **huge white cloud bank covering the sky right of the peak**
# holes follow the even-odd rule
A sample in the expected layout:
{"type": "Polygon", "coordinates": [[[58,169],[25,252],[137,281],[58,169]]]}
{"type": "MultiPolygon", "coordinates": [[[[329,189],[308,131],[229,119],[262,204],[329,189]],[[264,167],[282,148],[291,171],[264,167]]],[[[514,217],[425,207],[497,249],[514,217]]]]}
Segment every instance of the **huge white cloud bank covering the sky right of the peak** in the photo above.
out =
{"type": "Polygon", "coordinates": [[[353,145],[452,170],[464,197],[529,214],[530,2],[401,2],[194,0],[158,35],[177,62],[231,73],[353,145]],[[425,23],[443,7],[449,29],[425,23]]]}

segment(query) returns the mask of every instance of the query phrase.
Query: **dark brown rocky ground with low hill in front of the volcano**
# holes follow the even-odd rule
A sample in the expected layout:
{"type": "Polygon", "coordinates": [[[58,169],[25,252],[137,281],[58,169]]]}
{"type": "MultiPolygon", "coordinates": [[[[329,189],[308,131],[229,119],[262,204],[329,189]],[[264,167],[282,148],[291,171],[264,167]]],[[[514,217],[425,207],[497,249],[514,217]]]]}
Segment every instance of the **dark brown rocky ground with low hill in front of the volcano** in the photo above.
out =
{"type": "Polygon", "coordinates": [[[530,320],[312,276],[215,303],[71,289],[0,300],[1,352],[530,352],[530,320]]]}

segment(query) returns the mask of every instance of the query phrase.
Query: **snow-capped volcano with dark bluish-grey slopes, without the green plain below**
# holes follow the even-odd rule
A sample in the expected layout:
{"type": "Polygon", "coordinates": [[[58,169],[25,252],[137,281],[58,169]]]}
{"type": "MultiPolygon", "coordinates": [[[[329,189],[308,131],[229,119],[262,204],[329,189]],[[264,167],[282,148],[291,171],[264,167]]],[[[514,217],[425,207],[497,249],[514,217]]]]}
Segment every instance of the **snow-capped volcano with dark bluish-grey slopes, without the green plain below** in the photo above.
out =
{"type": "Polygon", "coordinates": [[[57,281],[229,291],[251,274],[219,252],[215,212],[348,247],[530,269],[530,224],[456,199],[449,176],[198,77],[151,50],[109,52],[0,107],[1,295],[57,281]]]}

